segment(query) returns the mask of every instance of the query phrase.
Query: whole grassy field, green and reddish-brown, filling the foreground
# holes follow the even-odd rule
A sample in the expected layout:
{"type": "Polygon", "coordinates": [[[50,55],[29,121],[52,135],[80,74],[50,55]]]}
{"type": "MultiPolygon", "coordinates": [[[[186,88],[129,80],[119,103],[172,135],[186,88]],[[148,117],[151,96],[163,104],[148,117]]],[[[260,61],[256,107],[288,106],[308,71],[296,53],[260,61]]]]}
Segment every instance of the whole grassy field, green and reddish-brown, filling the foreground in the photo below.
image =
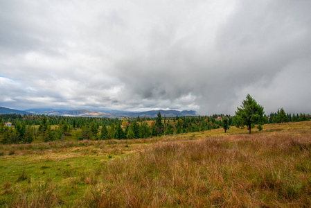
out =
{"type": "Polygon", "coordinates": [[[311,207],[311,122],[0,146],[0,207],[311,207]]]}

